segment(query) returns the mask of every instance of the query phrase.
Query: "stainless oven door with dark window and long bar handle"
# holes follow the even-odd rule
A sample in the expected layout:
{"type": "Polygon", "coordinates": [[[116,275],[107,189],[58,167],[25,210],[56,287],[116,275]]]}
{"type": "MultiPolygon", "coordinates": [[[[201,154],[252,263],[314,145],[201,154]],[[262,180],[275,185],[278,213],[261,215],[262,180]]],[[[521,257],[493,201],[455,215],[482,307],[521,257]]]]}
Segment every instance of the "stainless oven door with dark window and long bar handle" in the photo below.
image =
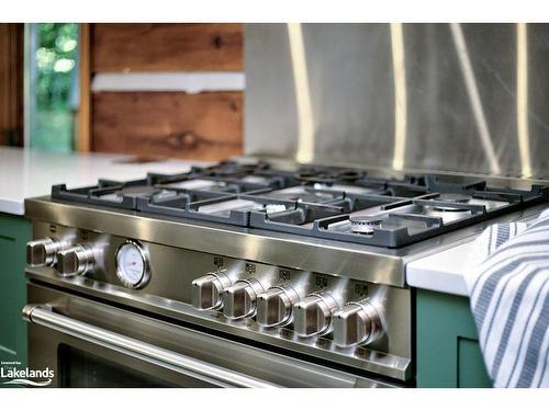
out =
{"type": "Polygon", "coordinates": [[[29,283],[29,368],[55,387],[389,387],[29,283]]]}

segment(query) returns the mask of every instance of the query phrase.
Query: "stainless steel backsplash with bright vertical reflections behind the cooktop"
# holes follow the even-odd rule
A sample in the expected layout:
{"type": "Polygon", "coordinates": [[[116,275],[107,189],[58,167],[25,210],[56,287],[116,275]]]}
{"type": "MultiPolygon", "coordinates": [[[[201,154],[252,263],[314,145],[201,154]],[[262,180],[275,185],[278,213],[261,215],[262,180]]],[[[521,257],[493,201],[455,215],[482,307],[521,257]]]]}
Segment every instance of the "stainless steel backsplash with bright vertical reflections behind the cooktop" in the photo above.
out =
{"type": "Polygon", "coordinates": [[[245,151],[549,176],[549,24],[248,24],[245,151]]]}

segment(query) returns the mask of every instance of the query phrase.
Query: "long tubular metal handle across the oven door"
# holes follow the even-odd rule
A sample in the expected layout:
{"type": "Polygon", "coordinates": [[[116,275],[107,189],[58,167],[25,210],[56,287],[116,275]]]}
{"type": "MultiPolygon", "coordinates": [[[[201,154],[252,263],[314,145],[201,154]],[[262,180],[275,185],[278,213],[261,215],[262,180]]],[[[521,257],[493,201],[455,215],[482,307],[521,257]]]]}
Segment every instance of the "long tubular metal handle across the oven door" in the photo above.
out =
{"type": "Polygon", "coordinates": [[[49,306],[26,305],[23,319],[221,387],[271,388],[271,383],[165,350],[69,317],[49,306]]]}

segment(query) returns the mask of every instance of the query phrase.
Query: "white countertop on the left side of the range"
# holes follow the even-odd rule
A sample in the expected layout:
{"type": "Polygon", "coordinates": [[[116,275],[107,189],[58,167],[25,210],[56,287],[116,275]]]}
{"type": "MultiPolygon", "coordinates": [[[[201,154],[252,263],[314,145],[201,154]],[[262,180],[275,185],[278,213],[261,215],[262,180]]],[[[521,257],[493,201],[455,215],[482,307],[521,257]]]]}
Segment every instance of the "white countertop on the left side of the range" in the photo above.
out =
{"type": "Polygon", "coordinates": [[[147,172],[189,171],[201,161],[164,160],[128,163],[135,157],[104,153],[54,153],[0,147],[0,212],[24,214],[24,199],[48,195],[54,184],[70,187],[96,184],[98,179],[135,180],[147,172]]]}

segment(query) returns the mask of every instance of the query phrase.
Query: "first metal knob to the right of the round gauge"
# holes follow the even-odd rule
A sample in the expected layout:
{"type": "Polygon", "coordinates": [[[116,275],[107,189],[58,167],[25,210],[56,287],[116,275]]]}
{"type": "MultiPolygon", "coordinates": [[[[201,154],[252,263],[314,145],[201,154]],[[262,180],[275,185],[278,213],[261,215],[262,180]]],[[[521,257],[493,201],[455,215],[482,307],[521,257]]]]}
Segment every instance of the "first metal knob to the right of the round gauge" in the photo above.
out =
{"type": "Polygon", "coordinates": [[[192,306],[215,310],[223,306],[223,292],[233,284],[224,273],[209,273],[192,282],[192,306]]]}

